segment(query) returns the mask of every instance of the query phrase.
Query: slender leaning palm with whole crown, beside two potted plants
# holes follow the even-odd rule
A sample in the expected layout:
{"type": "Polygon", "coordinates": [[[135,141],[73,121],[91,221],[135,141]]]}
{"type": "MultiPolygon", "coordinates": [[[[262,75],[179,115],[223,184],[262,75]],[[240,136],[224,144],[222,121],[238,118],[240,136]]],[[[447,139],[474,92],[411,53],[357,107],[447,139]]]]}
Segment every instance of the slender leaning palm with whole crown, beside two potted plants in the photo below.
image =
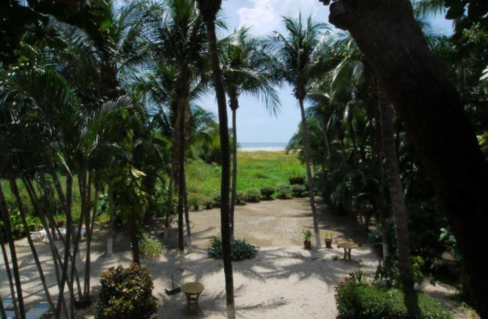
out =
{"type": "Polygon", "coordinates": [[[317,79],[318,75],[323,74],[327,67],[327,63],[324,61],[326,57],[325,40],[328,34],[320,37],[320,33],[328,29],[328,26],[314,21],[312,17],[303,21],[301,13],[298,19],[283,17],[283,22],[287,30],[286,35],[275,32],[275,36],[270,39],[270,44],[275,49],[276,70],[282,79],[293,86],[295,98],[300,106],[310,206],[314,219],[316,246],[317,249],[320,249],[322,245],[318,230],[317,208],[310,167],[310,145],[303,101],[310,92],[313,81],[317,79]]]}

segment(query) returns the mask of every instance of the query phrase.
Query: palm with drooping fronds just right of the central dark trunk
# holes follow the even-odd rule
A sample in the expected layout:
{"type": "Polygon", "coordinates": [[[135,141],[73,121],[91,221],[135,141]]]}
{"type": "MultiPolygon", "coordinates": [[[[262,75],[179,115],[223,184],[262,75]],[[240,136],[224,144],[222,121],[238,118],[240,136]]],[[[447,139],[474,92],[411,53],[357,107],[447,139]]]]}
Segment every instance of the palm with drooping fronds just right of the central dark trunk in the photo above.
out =
{"type": "Polygon", "coordinates": [[[231,240],[234,238],[234,206],[237,187],[237,123],[236,112],[239,108],[239,97],[248,94],[261,98],[266,107],[275,115],[279,111],[279,98],[273,84],[269,68],[268,48],[264,40],[253,37],[247,27],[234,30],[221,48],[221,63],[224,86],[232,110],[232,194],[231,194],[231,240]]]}

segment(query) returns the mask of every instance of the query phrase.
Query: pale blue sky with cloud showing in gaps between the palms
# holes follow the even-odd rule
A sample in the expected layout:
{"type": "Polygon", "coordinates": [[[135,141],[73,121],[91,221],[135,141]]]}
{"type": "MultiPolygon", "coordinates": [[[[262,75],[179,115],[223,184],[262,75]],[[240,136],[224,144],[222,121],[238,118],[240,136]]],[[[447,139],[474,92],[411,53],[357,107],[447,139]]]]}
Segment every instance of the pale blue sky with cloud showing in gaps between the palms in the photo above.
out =
{"type": "MultiPolygon", "coordinates": [[[[312,14],[316,20],[328,21],[329,8],[318,0],[224,0],[224,15],[229,30],[241,25],[253,26],[252,33],[265,36],[272,31],[283,31],[281,16],[302,16],[312,14]]],[[[444,17],[429,19],[432,26],[443,33],[452,31],[451,21],[444,17]]],[[[237,140],[239,142],[287,142],[297,130],[300,121],[298,103],[292,96],[290,87],[278,90],[281,113],[271,116],[264,103],[252,97],[241,96],[237,110],[237,140]]],[[[207,94],[200,104],[217,114],[214,92],[207,94]]],[[[231,113],[229,113],[229,125],[231,113]]]]}

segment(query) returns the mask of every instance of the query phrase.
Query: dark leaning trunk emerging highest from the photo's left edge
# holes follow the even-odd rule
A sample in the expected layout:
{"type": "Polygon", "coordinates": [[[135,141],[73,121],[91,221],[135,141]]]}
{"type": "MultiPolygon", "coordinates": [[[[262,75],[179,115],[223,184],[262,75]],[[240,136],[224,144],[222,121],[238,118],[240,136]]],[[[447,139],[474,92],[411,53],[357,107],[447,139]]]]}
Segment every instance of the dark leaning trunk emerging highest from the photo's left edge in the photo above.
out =
{"type": "MultiPolygon", "coordinates": [[[[12,226],[10,225],[10,217],[8,215],[7,202],[3,193],[3,188],[0,183],[0,212],[3,218],[3,224],[5,225],[5,235],[7,237],[8,246],[10,248],[10,257],[12,258],[12,270],[14,272],[15,286],[17,288],[17,300],[19,302],[19,316],[21,319],[25,319],[24,299],[21,286],[21,275],[19,272],[19,263],[17,261],[17,252],[15,250],[14,236],[12,235],[12,226]]],[[[4,249],[4,246],[2,245],[4,249]]],[[[6,254],[5,254],[6,255],[6,254]]],[[[5,259],[7,264],[8,259],[5,259]]],[[[12,298],[14,296],[12,295],[12,298]]]]}

